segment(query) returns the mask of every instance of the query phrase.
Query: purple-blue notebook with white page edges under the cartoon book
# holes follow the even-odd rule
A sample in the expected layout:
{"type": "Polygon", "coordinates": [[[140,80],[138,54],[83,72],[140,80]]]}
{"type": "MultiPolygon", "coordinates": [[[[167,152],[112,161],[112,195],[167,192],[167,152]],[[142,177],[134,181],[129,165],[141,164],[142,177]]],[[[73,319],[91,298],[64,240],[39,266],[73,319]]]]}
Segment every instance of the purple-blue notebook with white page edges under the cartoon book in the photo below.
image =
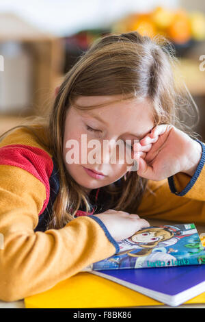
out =
{"type": "Polygon", "coordinates": [[[169,306],[205,292],[205,265],[90,271],[169,306]]]}

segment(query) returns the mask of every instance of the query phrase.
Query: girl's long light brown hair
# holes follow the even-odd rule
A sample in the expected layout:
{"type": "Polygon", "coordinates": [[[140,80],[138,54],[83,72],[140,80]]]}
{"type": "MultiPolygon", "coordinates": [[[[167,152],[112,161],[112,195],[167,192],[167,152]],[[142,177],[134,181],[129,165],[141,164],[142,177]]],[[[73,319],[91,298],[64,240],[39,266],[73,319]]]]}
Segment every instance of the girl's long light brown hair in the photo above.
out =
{"type": "MultiPolygon", "coordinates": [[[[153,106],[154,125],[172,124],[188,133],[189,127],[179,121],[178,112],[187,106],[191,107],[191,104],[189,99],[180,94],[174,81],[175,63],[172,47],[167,49],[157,38],[151,40],[137,32],[128,32],[98,38],[68,71],[49,116],[42,118],[41,122],[49,138],[49,145],[44,146],[51,151],[57,162],[60,179],[59,194],[48,228],[64,227],[74,218],[83,202],[86,211],[91,210],[89,198],[66,171],[63,160],[64,125],[68,108],[74,106],[86,110],[100,107],[77,106],[76,99],[80,96],[121,95],[123,99],[146,97],[153,106]]],[[[38,122],[33,120],[33,123],[38,122]]],[[[193,136],[193,132],[190,135],[193,136]]],[[[147,179],[137,175],[137,171],[131,171],[122,177],[121,186],[111,184],[101,189],[111,197],[109,208],[136,213],[147,182],[147,179]]]]}

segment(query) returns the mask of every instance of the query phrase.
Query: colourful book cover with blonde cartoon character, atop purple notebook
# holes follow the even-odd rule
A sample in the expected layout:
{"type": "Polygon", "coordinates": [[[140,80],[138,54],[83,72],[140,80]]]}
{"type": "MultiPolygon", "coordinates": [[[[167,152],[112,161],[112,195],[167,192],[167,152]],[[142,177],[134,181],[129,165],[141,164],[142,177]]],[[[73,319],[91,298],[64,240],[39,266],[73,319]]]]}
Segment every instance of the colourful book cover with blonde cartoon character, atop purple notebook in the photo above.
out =
{"type": "Polygon", "coordinates": [[[118,254],[95,262],[85,271],[205,264],[204,247],[194,223],[144,228],[118,245],[118,254]]]}

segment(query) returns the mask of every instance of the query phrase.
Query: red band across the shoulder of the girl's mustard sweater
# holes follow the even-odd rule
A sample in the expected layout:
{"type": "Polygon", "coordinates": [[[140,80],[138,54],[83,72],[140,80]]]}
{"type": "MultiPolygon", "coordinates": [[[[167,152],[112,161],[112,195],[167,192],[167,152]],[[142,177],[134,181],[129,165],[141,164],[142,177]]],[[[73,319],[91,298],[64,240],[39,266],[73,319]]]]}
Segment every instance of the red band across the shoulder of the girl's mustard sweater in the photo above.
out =
{"type": "Polygon", "coordinates": [[[0,148],[0,164],[18,166],[34,175],[46,188],[46,200],[39,215],[46,208],[50,197],[49,177],[53,171],[53,160],[48,153],[29,145],[6,145],[0,148]]]}

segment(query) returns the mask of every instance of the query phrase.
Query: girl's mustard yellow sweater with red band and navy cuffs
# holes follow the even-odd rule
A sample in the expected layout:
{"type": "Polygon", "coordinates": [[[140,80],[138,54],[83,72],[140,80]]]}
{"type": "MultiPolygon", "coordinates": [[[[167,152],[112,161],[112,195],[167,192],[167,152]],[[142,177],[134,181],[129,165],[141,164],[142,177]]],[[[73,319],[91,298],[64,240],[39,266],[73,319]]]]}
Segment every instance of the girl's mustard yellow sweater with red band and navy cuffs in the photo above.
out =
{"type": "MultiPolygon", "coordinates": [[[[38,135],[46,136],[40,127],[38,135]]],[[[177,173],[160,182],[148,182],[139,216],[205,222],[205,152],[201,145],[202,159],[193,177],[177,173]]],[[[16,129],[1,140],[1,300],[16,301],[43,292],[118,252],[117,243],[94,216],[98,208],[90,214],[79,210],[78,217],[64,228],[46,230],[58,190],[55,161],[29,130],[16,129]]],[[[99,189],[95,201],[98,193],[99,189]]]]}

